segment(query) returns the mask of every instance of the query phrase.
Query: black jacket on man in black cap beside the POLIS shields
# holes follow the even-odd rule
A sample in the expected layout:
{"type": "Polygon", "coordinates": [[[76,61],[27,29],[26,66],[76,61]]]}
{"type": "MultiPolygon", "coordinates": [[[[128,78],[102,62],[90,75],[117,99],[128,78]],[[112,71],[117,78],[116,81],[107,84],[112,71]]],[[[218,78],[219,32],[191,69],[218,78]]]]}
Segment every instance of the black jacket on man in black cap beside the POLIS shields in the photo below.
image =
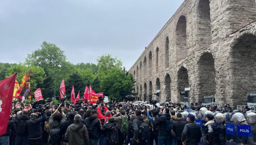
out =
{"type": "Polygon", "coordinates": [[[220,144],[220,128],[216,123],[210,123],[206,126],[206,140],[210,141],[209,145],[220,144]]]}

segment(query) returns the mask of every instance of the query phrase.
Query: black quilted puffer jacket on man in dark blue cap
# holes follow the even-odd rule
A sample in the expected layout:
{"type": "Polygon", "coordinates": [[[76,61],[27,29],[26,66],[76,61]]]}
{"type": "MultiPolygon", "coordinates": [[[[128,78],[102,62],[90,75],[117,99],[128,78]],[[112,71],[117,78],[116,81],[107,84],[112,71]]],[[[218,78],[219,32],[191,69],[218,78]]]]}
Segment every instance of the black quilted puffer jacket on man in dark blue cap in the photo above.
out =
{"type": "Polygon", "coordinates": [[[184,126],[181,141],[186,141],[186,145],[198,145],[201,137],[202,132],[200,126],[190,121],[184,126]]]}

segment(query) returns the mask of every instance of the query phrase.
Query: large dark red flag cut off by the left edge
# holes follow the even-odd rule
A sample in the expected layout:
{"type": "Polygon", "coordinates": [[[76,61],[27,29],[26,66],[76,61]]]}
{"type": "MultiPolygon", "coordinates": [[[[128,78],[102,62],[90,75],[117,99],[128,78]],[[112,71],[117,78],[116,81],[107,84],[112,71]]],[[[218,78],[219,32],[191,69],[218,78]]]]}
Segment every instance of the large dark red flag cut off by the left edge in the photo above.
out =
{"type": "Polygon", "coordinates": [[[8,120],[11,113],[10,108],[16,75],[17,72],[12,76],[0,81],[0,135],[6,133],[8,120]]]}

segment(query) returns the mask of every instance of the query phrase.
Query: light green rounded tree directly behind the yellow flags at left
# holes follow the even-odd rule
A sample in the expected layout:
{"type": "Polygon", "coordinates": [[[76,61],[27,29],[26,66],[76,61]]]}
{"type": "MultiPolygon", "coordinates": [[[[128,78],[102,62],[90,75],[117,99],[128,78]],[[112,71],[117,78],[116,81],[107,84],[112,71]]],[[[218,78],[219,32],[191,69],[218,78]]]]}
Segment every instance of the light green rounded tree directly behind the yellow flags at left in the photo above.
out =
{"type": "Polygon", "coordinates": [[[15,72],[18,72],[16,79],[18,83],[21,82],[21,79],[26,72],[28,75],[28,72],[30,71],[30,86],[32,91],[35,91],[38,89],[38,84],[43,84],[44,80],[46,79],[45,71],[43,68],[36,67],[36,66],[27,66],[25,64],[19,63],[18,65],[14,65],[10,68],[8,68],[8,73],[6,74],[6,78],[14,74],[15,72]]]}

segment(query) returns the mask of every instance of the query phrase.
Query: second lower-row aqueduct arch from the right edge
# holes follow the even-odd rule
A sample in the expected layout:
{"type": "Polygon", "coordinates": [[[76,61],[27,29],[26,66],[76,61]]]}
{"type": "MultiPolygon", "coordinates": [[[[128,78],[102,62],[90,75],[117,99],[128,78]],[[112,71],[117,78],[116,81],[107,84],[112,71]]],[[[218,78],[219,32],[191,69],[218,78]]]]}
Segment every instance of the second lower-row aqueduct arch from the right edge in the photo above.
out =
{"type": "Polygon", "coordinates": [[[216,94],[216,71],[214,58],[209,52],[204,52],[198,61],[199,68],[199,102],[202,102],[204,96],[216,94]]]}

